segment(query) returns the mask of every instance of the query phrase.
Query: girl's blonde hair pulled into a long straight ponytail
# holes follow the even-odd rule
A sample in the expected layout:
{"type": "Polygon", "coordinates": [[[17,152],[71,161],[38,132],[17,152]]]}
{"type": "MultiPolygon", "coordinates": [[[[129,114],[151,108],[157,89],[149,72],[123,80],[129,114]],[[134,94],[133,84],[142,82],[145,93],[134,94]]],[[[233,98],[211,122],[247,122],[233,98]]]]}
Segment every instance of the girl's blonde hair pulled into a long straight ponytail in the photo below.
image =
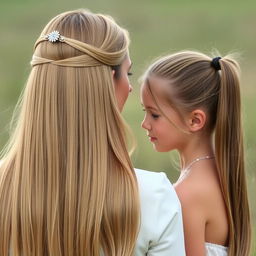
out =
{"type": "Polygon", "coordinates": [[[178,52],[153,63],[144,79],[152,94],[150,77],[169,81],[171,90],[165,94],[166,100],[181,116],[184,111],[201,107],[207,111],[206,125],[215,132],[215,158],[228,215],[229,256],[248,256],[251,220],[244,167],[240,68],[231,56],[221,58],[219,65],[220,71],[213,67],[212,58],[202,53],[178,52]]]}

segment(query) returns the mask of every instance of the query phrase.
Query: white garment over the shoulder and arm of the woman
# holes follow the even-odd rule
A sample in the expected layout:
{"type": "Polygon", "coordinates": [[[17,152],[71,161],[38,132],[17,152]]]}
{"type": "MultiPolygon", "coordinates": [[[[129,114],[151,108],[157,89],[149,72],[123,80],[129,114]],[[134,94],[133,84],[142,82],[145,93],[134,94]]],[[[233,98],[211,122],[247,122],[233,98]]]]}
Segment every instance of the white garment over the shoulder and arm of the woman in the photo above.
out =
{"type": "Polygon", "coordinates": [[[164,173],[135,169],[141,224],[135,256],[185,256],[179,199],[164,173]]]}

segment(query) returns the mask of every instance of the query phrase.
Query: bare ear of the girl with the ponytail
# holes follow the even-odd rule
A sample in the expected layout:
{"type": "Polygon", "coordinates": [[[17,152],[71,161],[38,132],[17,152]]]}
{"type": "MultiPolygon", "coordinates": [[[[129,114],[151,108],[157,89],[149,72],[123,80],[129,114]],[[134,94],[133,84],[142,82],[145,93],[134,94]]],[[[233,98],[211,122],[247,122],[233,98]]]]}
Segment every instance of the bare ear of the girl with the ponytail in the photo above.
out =
{"type": "Polygon", "coordinates": [[[201,109],[192,111],[188,117],[188,126],[191,132],[197,132],[204,128],[206,123],[206,114],[201,109]]]}

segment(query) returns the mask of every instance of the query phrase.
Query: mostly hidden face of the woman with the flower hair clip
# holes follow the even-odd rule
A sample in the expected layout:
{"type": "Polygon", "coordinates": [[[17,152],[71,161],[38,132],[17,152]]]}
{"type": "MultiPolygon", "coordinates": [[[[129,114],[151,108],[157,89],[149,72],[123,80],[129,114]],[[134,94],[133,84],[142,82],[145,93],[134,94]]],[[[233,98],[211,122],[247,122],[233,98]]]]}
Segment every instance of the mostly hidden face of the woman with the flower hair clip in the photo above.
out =
{"type": "MultiPolygon", "coordinates": [[[[122,111],[124,104],[128,98],[129,92],[132,91],[128,76],[131,75],[131,60],[129,55],[125,58],[120,67],[120,74],[118,78],[114,76],[115,95],[118,103],[119,110],[122,111]]],[[[113,74],[114,75],[114,74],[113,74]]]]}

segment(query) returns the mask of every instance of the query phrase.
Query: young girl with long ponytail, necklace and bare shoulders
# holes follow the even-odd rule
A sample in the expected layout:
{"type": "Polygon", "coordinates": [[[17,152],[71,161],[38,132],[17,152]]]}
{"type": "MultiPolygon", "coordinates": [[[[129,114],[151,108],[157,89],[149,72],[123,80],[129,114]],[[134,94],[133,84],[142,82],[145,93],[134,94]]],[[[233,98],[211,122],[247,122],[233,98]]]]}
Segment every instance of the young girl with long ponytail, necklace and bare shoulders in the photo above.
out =
{"type": "Polygon", "coordinates": [[[141,98],[154,148],[180,154],[186,255],[249,255],[237,62],[191,51],[163,57],[146,71],[141,98]]]}

